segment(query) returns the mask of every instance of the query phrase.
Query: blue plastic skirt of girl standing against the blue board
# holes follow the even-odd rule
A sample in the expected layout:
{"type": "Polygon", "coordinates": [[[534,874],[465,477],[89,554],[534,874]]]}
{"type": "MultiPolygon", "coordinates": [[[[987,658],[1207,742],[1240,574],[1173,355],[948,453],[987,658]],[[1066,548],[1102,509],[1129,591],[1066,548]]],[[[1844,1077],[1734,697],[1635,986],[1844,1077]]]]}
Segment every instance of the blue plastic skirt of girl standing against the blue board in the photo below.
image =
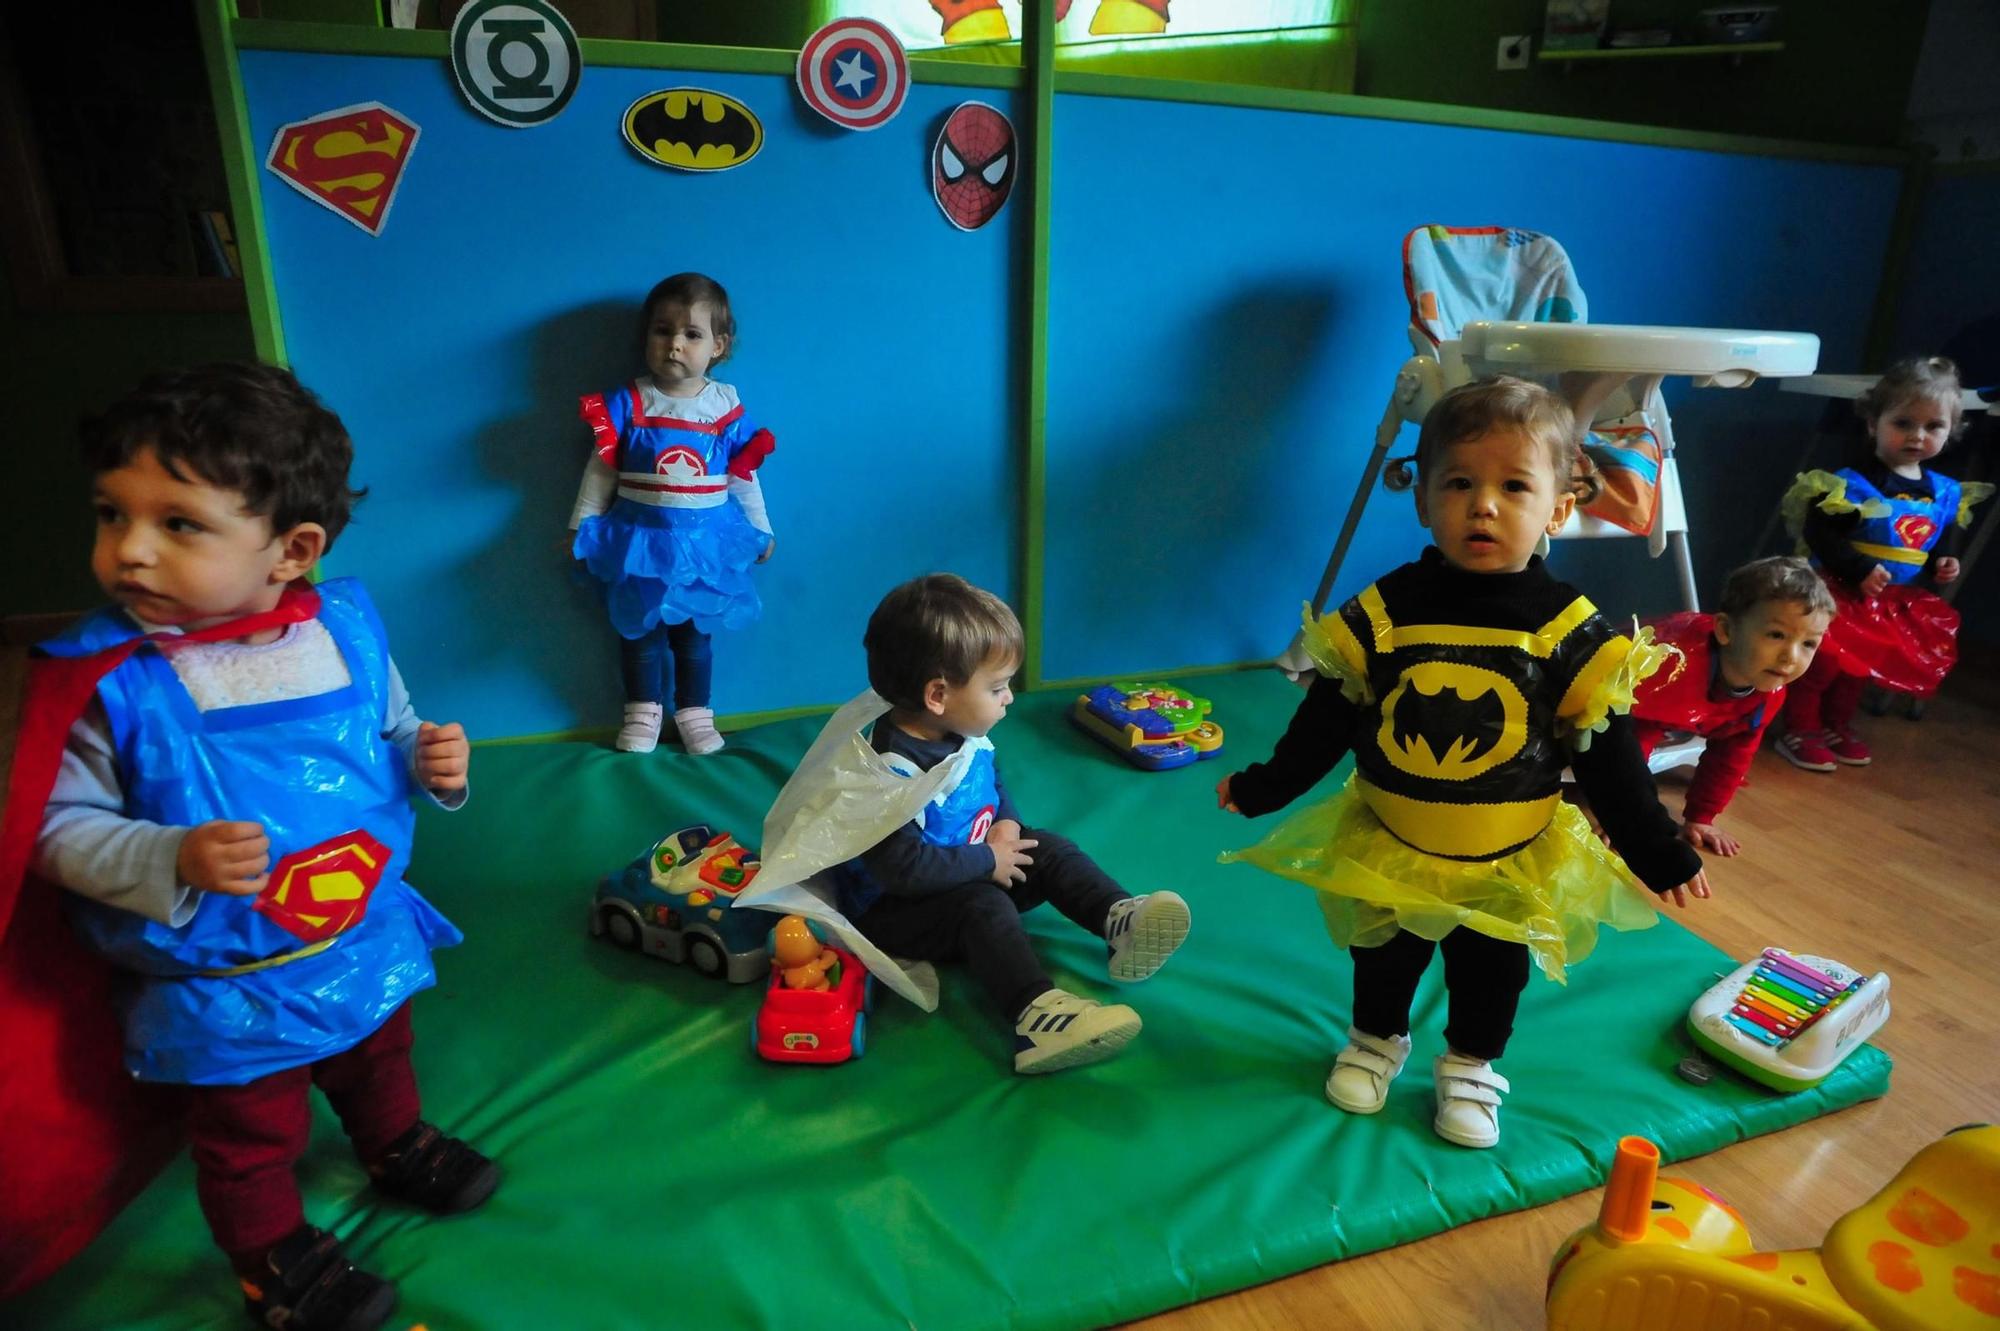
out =
{"type": "Polygon", "coordinates": [[[572,552],[604,584],[622,638],[684,620],[714,634],[744,628],[762,612],[750,568],[768,540],[736,504],[654,508],[618,500],[578,524],[572,552]]]}

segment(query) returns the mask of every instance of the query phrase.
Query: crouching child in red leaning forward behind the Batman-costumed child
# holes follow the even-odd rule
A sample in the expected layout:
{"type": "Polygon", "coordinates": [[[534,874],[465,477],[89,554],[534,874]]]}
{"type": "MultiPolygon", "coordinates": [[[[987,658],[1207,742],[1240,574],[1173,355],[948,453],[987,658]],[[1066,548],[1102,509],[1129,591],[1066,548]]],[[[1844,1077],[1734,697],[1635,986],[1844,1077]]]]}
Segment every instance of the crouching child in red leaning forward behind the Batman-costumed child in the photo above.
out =
{"type": "Polygon", "coordinates": [[[1660,646],[1680,652],[1682,666],[1638,687],[1632,727],[1640,749],[1652,757],[1674,731],[1706,739],[1680,805],[1680,839],[1688,845],[1716,855],[1742,849],[1716,819],[1744,783],[1786,685],[1812,666],[1832,618],[1834,596],[1812,566],[1772,556],[1728,576],[1716,614],[1646,622],[1660,646]]]}

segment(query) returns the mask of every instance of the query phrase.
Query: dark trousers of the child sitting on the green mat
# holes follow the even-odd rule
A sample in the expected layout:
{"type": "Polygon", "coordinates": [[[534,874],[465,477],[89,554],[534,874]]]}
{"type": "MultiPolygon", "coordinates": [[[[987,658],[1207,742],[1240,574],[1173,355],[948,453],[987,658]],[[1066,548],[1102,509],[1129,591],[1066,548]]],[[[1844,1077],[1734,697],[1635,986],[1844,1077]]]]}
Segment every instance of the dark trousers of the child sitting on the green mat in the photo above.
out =
{"type": "Polygon", "coordinates": [[[884,895],[854,921],[868,941],[892,957],[962,961],[1000,1005],[1008,1025],[1028,1003],[1054,989],[1020,917],[1048,901],[1102,937],[1112,905],[1132,895],[1076,849],[1076,841],[1038,829],[1022,829],[1022,835],[1040,845],[1028,851],[1034,855],[1028,881],[1012,891],[980,879],[920,895],[884,895]]]}

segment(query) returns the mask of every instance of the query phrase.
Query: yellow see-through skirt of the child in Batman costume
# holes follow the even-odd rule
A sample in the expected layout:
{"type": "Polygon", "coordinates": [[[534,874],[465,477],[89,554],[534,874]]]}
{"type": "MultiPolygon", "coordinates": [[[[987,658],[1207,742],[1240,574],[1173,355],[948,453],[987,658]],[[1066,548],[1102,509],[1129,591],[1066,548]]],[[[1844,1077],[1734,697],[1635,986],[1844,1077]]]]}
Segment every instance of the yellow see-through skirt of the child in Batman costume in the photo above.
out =
{"type": "Polygon", "coordinates": [[[1600,925],[1650,929],[1658,921],[1652,893],[1570,803],[1558,803],[1548,827],[1512,855],[1468,863],[1398,841],[1350,775],[1332,799],[1300,809],[1222,861],[1252,863],[1316,889],[1326,931],[1340,947],[1378,947],[1398,929],[1428,939],[1478,929],[1526,943],[1556,983],[1590,955],[1600,925]]]}

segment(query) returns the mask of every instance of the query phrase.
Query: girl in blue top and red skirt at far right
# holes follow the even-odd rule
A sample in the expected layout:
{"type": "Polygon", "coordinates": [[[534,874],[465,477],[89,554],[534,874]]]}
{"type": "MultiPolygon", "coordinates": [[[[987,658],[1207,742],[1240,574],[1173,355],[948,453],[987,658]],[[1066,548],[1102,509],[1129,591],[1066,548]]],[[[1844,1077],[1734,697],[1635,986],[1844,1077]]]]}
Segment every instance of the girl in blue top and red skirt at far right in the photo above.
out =
{"type": "Polygon", "coordinates": [[[1838,472],[1806,472],[1784,496],[1786,528],[1826,578],[1840,614],[1812,669],[1784,703],[1778,755],[1794,767],[1864,767],[1854,733],[1862,689],[1878,683],[1928,697],[1958,662],[1958,612],[1918,586],[1958,580],[1958,542],[1972,506],[1994,492],[1960,486],[1924,464],[1958,434],[1958,366],[1942,356],[1890,366],[1854,408],[1868,450],[1838,472]]]}

